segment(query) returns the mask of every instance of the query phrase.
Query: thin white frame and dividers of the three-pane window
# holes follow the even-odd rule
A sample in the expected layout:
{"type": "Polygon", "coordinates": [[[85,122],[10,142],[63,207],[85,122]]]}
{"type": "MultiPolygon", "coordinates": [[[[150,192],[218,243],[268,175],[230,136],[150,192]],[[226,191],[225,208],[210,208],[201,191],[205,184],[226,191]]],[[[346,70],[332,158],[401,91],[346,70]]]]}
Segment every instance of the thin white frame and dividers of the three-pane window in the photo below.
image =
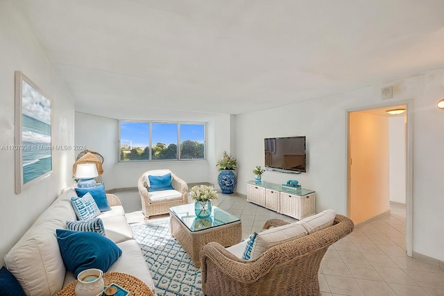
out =
{"type": "Polygon", "coordinates": [[[146,163],[146,162],[202,162],[207,160],[207,123],[198,121],[147,121],[147,120],[117,120],[117,164],[134,164],[134,163],[146,163]],[[147,160],[136,159],[136,160],[121,160],[121,123],[148,123],[148,150],[149,157],[147,160]],[[153,155],[153,123],[165,123],[165,124],[176,124],[178,128],[177,134],[177,159],[152,159],[153,155]],[[180,151],[180,125],[203,125],[203,158],[201,159],[181,159],[180,151]]]}

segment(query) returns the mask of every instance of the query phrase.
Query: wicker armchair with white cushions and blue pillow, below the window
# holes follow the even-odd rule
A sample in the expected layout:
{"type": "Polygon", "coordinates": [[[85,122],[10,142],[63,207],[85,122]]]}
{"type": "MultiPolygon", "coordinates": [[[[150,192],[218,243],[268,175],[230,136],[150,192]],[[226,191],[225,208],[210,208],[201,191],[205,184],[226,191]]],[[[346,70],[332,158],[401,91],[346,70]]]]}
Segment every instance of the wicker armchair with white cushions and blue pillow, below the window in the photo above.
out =
{"type": "Polygon", "coordinates": [[[142,213],[145,215],[146,219],[150,218],[150,216],[168,214],[170,207],[188,203],[187,183],[185,183],[185,181],[181,180],[173,173],[171,173],[171,185],[176,191],[178,191],[181,194],[181,196],[173,200],[171,199],[167,199],[164,201],[150,200],[151,193],[148,193],[148,189],[146,187],[148,185],[146,180],[148,178],[148,175],[164,175],[166,173],[171,173],[171,171],[169,170],[146,171],[139,178],[137,186],[139,188],[140,198],[142,198],[142,213]]]}

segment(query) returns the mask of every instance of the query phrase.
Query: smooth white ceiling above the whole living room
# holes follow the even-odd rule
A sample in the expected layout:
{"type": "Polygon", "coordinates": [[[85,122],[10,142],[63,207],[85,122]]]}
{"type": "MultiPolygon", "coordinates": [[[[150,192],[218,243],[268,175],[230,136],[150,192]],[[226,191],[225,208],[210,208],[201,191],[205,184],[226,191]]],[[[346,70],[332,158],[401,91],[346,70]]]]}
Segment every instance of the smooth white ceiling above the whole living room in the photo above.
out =
{"type": "Polygon", "coordinates": [[[76,111],[104,116],[241,114],[444,67],[442,0],[19,1],[76,111]]]}

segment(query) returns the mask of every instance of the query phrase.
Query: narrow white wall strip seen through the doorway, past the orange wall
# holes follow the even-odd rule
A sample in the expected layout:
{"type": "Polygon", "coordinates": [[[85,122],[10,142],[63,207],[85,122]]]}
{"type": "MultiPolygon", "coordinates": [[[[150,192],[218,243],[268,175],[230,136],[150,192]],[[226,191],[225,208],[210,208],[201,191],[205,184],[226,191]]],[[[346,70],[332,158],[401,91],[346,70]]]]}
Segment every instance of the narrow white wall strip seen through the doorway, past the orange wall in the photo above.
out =
{"type": "Polygon", "coordinates": [[[407,196],[406,116],[392,117],[388,121],[390,151],[390,201],[405,204],[407,196]]]}

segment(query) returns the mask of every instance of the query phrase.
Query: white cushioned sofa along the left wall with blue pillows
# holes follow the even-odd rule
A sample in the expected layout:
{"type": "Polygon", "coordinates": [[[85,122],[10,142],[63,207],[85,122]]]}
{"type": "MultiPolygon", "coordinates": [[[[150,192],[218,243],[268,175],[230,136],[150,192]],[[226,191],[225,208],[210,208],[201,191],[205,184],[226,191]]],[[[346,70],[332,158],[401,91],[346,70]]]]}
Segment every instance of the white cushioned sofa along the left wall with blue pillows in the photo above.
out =
{"type": "MultiPolygon", "coordinates": [[[[65,268],[56,238],[56,229],[66,229],[67,221],[77,220],[71,206],[73,196],[78,196],[74,189],[63,191],[5,256],[6,268],[19,281],[26,295],[55,295],[75,281],[74,275],[65,268]]],[[[106,236],[122,250],[108,272],[133,275],[154,291],[153,279],[133,238],[120,200],[112,194],[107,194],[107,200],[111,210],[102,212],[97,218],[103,220],[106,236]]]]}

